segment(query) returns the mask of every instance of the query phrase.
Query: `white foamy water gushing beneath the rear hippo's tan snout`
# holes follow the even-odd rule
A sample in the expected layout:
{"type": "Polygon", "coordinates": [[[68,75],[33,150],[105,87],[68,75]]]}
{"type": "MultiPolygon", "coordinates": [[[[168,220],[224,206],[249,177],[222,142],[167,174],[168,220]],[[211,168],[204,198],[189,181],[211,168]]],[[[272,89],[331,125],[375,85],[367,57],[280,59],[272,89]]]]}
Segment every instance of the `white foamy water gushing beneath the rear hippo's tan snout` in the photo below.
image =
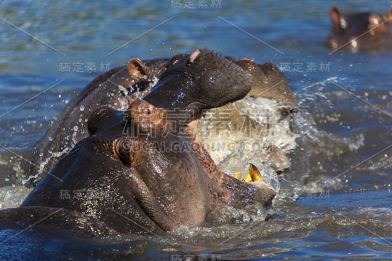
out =
{"type": "Polygon", "coordinates": [[[263,97],[244,99],[211,110],[200,120],[197,137],[219,163],[240,147],[249,158],[256,153],[263,162],[272,159],[279,170],[290,167],[286,152],[296,147],[297,134],[290,130],[290,119],[279,112],[277,101],[263,97]]]}

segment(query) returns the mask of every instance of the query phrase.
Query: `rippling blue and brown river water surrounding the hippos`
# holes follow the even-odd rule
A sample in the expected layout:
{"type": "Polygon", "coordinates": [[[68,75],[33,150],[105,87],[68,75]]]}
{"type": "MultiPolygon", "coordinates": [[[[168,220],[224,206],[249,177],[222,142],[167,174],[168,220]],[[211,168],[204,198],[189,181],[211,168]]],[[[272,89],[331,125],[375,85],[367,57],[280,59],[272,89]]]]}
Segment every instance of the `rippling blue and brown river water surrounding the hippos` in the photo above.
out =
{"type": "MultiPolygon", "coordinates": [[[[195,9],[180,2],[0,2],[2,19],[50,46],[0,22],[1,207],[16,207],[28,193],[20,186],[34,173],[24,159],[72,96],[107,66],[209,48],[285,67],[298,98],[291,129],[299,137],[289,171],[279,175],[275,214],[241,221],[246,213],[227,210],[237,221],[162,238],[62,240],[26,231],[0,245],[2,259],[392,259],[392,54],[329,54],[323,41],[334,1],[207,1],[202,10],[198,1],[195,9]]],[[[390,5],[340,3],[343,11],[385,12],[390,5]]],[[[1,239],[15,234],[5,231],[1,239]]]]}

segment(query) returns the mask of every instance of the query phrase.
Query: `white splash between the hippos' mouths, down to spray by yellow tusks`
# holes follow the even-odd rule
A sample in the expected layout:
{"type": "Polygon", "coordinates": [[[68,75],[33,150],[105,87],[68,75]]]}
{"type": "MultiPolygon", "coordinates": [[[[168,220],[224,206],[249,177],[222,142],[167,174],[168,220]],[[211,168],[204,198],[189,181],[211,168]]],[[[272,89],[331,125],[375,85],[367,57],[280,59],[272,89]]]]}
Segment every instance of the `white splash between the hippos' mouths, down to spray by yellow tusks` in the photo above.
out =
{"type": "Polygon", "coordinates": [[[286,180],[283,175],[278,178],[274,170],[291,167],[286,154],[297,147],[296,139],[301,136],[291,130],[298,113],[284,116],[279,112],[282,107],[274,100],[246,96],[234,106],[207,113],[200,120],[197,133],[223,172],[231,176],[238,173],[242,179],[249,172],[249,163],[256,166],[264,182],[275,189],[274,201],[285,197],[295,199],[300,190],[300,182],[286,180]]]}

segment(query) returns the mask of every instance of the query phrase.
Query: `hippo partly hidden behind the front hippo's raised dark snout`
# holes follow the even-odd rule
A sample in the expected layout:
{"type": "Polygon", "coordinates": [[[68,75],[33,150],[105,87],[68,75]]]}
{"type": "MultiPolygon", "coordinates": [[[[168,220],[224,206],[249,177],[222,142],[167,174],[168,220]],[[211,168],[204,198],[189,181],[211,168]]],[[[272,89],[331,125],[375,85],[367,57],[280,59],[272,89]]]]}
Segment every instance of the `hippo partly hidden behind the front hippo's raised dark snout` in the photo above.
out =
{"type": "MultiPolygon", "coordinates": [[[[30,172],[37,174],[31,185],[35,187],[37,182],[49,173],[58,160],[66,155],[76,142],[87,137],[87,117],[99,106],[107,105],[117,110],[125,110],[133,100],[143,98],[157,107],[166,106],[166,109],[169,110],[172,108],[167,106],[174,102],[178,109],[179,103],[171,98],[177,96],[171,94],[172,96],[161,97],[162,94],[159,93],[161,92],[159,90],[165,93],[167,85],[165,88],[157,88],[153,95],[148,94],[157,86],[160,78],[165,77],[162,75],[164,72],[166,74],[172,73],[171,71],[176,70],[176,66],[186,61],[188,57],[188,54],[179,53],[170,59],[141,61],[138,58],[133,58],[128,61],[127,66],[114,68],[90,82],[80,94],[73,97],[68,103],[33,151],[34,164],[31,166],[30,172]],[[166,104],[162,104],[165,99],[166,104]],[[157,104],[158,101],[161,104],[157,104]]],[[[231,56],[225,58],[250,75],[252,89],[249,94],[251,96],[263,96],[282,102],[285,105],[281,107],[282,112],[293,112],[298,109],[293,92],[276,65],[273,63],[256,64],[253,59],[248,58],[239,61],[231,56]]],[[[184,92],[184,94],[187,93],[184,92]]],[[[195,99],[202,99],[199,94],[195,95],[195,99]]],[[[203,103],[203,101],[200,100],[199,103],[203,103]]],[[[177,127],[180,126],[177,124],[177,127]]]]}

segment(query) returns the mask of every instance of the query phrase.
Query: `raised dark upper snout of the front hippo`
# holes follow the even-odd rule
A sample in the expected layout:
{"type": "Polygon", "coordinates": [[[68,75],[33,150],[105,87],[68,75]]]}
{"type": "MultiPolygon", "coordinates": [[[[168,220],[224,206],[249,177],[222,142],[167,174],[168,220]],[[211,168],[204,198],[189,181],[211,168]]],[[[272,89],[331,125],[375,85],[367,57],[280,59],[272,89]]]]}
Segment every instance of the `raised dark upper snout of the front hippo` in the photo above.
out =
{"type": "Polygon", "coordinates": [[[241,99],[250,89],[250,77],[239,66],[215,52],[196,49],[169,59],[158,84],[143,99],[192,118],[241,99]]]}

